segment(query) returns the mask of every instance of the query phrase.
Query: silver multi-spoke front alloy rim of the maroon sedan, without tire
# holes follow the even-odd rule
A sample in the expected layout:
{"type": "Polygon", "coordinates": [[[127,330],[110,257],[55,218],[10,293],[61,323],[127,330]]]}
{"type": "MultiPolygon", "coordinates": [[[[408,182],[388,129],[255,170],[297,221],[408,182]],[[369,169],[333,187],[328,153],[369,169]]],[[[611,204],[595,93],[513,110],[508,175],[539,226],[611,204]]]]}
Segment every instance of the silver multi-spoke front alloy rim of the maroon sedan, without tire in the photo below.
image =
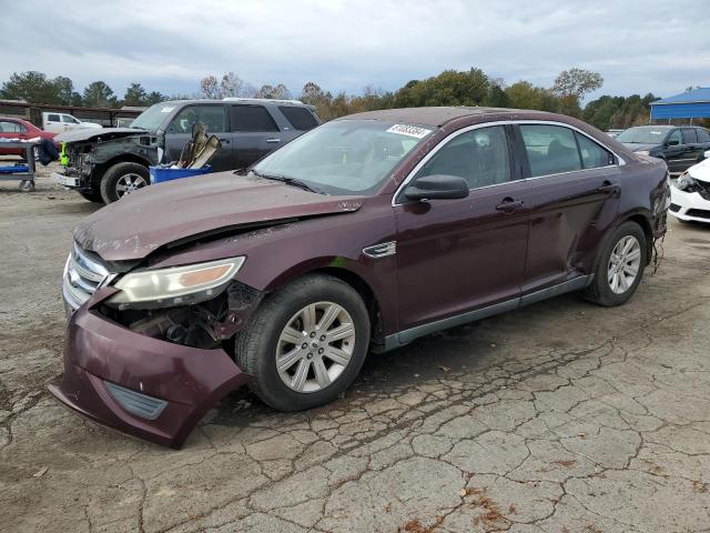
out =
{"type": "Polygon", "coordinates": [[[336,381],[355,349],[355,324],[337,303],[316,302],[295,313],[276,343],[276,370],[296,392],[318,392],[336,381]]]}

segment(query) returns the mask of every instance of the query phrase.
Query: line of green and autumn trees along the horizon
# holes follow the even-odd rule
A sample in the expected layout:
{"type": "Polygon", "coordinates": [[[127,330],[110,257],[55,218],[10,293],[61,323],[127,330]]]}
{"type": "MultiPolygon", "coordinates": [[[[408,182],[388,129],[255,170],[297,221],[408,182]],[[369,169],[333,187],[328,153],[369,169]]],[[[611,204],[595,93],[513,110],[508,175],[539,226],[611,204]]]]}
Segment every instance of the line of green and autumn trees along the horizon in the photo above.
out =
{"type": "MultiPolygon", "coordinates": [[[[585,95],[604,84],[597,72],[572,68],[559,73],[552,87],[534,86],[528,81],[506,84],[483,70],[445,70],[423,80],[412,80],[395,91],[383,91],[372,86],[359,94],[344,91],[332,93],[317,83],[307,82],[296,98],[315,107],[318,117],[327,121],[345,114],[389,108],[425,105],[489,105],[497,108],[536,109],[580,118],[599,129],[628,128],[647,123],[651,93],[641,97],[604,95],[582,105],[585,95]]],[[[139,82],[131,83],[123,98],[119,98],[104,81],[89,83],[82,92],[74,89],[70,78],[49,78],[42,72],[16,72],[2,83],[0,99],[24,100],[30,103],[120,108],[146,107],[170,99],[225,97],[290,99],[291,91],[283,84],[263,84],[260,88],[242,80],[234,72],[221,77],[207,76],[200,81],[193,94],[172,94],[148,91],[139,82]]]]}

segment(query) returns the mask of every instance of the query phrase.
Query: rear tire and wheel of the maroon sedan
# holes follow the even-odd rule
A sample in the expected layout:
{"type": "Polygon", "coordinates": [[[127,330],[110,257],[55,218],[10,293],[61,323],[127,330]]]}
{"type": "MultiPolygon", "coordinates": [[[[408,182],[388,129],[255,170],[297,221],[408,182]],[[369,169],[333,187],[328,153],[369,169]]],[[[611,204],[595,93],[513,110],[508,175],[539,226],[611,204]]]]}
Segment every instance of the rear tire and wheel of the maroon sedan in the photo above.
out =
{"type": "Polygon", "coordinates": [[[597,258],[586,300],[608,308],[621,305],[633,295],[648,263],[646,233],[636,222],[613,230],[597,258]]]}

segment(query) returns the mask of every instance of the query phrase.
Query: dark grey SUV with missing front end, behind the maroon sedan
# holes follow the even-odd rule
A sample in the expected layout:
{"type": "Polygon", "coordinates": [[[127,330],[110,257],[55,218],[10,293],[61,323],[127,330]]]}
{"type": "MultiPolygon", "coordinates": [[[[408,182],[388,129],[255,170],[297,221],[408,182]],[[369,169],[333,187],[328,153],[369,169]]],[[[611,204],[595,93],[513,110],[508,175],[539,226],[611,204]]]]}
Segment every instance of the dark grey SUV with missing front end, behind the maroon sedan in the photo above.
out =
{"type": "Polygon", "coordinates": [[[58,135],[64,144],[57,183],[94,202],[114,202],[145,187],[149,165],[180,159],[195,123],[219,137],[214,171],[242,169],[298,137],[320,121],[297,100],[180,100],[146,109],[130,128],[73,130],[58,135]]]}

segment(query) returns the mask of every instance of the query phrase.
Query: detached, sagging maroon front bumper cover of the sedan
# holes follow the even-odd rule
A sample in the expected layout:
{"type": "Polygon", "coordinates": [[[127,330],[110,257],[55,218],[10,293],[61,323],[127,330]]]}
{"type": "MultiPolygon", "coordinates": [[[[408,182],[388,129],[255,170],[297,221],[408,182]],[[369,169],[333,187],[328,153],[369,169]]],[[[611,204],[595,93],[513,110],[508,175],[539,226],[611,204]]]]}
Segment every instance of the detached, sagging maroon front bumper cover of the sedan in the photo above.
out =
{"type": "Polygon", "coordinates": [[[50,392],[78,413],[146,441],[180,447],[202,416],[250,380],[224,352],[134,333],[87,306],[70,319],[64,375],[50,392]],[[108,383],[108,385],[106,385],[108,383]],[[129,410],[120,385],[138,402],[160,405],[154,418],[129,410]],[[126,410],[126,408],[129,410],[126,410]]]}

